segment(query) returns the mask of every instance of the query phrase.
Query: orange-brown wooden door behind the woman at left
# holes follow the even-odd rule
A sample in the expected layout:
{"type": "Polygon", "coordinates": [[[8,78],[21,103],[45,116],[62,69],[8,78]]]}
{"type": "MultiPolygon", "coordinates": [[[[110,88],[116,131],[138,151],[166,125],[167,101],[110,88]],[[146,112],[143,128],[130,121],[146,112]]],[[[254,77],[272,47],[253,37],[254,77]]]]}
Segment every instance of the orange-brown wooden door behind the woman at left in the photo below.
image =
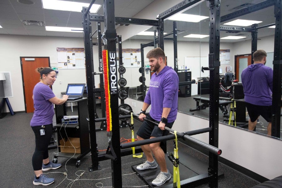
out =
{"type": "Polygon", "coordinates": [[[38,67],[50,67],[49,57],[20,57],[24,88],[25,112],[34,112],[33,88],[40,81],[40,74],[35,71],[38,67]]]}

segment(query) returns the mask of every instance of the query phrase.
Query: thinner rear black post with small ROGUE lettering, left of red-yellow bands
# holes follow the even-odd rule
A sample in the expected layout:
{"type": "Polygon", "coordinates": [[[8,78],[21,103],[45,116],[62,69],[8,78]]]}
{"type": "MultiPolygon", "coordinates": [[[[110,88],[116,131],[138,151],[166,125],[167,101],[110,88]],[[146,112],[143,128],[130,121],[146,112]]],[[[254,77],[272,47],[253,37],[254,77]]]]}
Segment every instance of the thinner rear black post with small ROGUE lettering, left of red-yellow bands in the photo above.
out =
{"type": "MultiPolygon", "coordinates": [[[[101,22],[97,22],[97,44],[98,44],[98,58],[99,58],[99,72],[103,72],[103,57],[102,57],[102,33],[101,33],[101,22]]],[[[102,118],[106,118],[106,100],[105,100],[105,89],[104,89],[104,75],[100,74],[100,97],[101,97],[101,112],[102,118]]],[[[107,129],[107,121],[102,121],[100,130],[107,129]]]]}

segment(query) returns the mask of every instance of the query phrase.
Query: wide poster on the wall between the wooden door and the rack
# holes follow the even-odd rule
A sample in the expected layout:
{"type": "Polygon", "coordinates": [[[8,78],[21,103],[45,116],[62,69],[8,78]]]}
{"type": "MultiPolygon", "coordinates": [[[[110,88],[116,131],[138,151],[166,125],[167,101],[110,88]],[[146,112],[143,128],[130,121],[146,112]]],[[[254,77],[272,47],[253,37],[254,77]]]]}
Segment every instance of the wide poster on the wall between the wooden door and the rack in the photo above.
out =
{"type": "Polygon", "coordinates": [[[84,48],[57,48],[58,69],[85,69],[84,48]]]}

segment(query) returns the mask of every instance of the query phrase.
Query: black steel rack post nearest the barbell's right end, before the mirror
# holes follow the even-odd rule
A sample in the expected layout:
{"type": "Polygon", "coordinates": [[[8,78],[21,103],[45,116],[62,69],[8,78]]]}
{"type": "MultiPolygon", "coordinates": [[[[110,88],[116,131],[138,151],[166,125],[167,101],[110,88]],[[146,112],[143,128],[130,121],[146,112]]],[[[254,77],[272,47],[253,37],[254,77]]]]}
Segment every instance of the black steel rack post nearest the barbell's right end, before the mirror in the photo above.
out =
{"type": "MultiPolygon", "coordinates": [[[[207,1],[210,7],[210,128],[209,144],[218,147],[218,108],[219,108],[219,45],[220,45],[220,0],[207,1]]],[[[212,174],[209,187],[217,187],[218,156],[209,152],[208,172],[212,174]]]]}

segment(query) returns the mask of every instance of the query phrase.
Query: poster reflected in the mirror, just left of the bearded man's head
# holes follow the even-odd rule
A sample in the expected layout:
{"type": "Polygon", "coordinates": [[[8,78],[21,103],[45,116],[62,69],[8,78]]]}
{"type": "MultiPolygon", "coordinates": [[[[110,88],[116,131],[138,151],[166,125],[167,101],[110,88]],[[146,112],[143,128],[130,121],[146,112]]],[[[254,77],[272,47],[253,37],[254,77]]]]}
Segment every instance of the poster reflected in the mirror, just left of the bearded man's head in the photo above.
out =
{"type": "MultiPolygon", "coordinates": [[[[118,51],[117,51],[118,54],[118,51]]],[[[123,49],[123,66],[126,68],[141,67],[141,49],[123,49]]]]}

